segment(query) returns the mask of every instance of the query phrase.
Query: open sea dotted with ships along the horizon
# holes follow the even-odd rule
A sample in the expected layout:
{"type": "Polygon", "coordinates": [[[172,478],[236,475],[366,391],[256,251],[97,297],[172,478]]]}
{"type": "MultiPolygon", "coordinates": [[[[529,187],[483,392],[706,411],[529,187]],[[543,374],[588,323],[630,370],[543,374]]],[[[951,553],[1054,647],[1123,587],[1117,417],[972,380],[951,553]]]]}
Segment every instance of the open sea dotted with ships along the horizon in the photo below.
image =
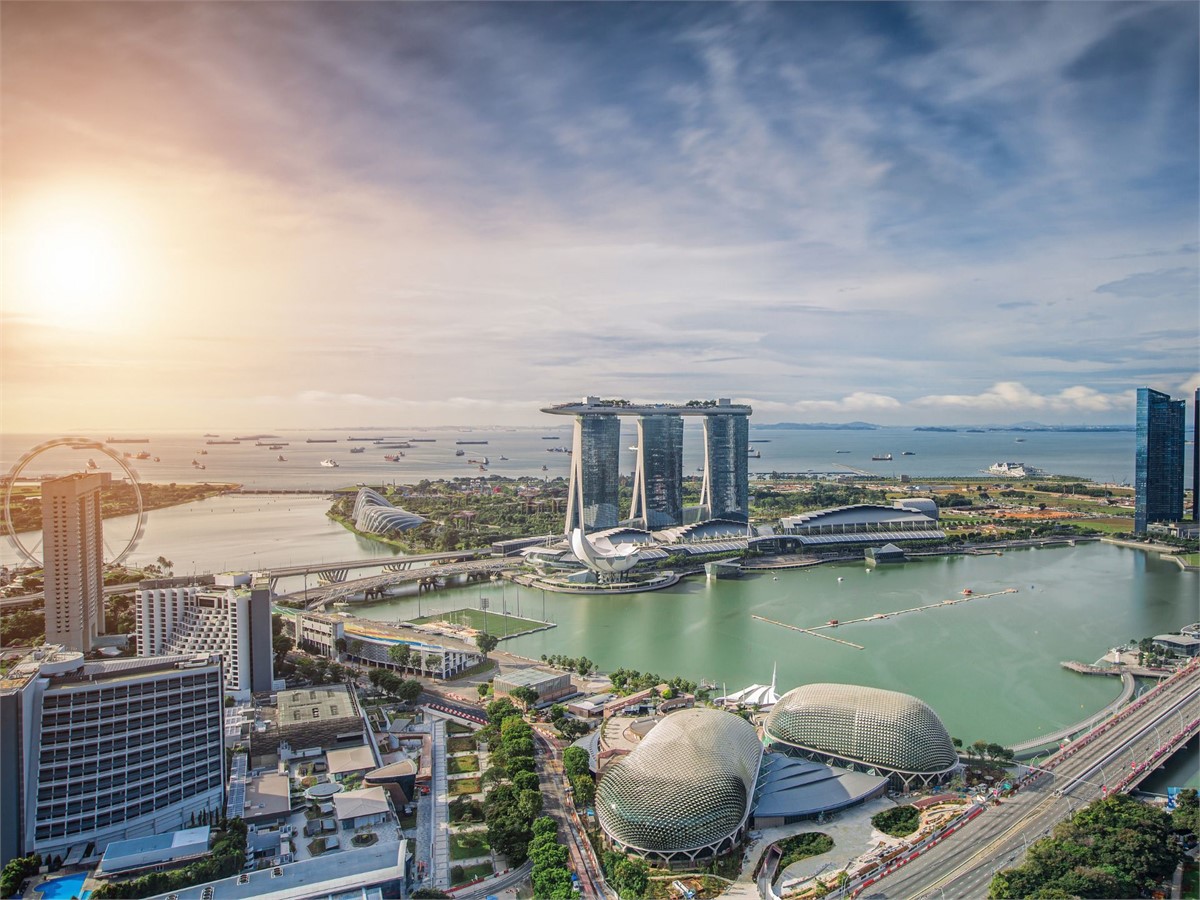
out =
{"type": "MultiPolygon", "coordinates": [[[[359,482],[415,484],[422,479],[480,476],[565,478],[570,472],[571,426],[541,428],[394,428],[362,431],[272,431],[262,434],[145,433],[71,436],[101,442],[142,481],[234,482],[256,490],[335,490],[359,482]],[[108,443],[143,438],[145,443],[108,443]],[[241,438],[239,443],[226,443],[241,438]],[[353,440],[352,438],[365,438],[353,440]],[[221,442],[221,443],[209,443],[221,442]],[[314,443],[319,442],[319,443],[314,443]],[[379,443],[376,443],[379,442],[379,443]],[[385,444],[408,443],[408,448],[385,444]],[[259,445],[262,444],[262,445],[259,445]],[[278,445],[271,450],[270,444],[278,445]],[[361,452],[350,452],[352,449],[361,452]],[[462,455],[455,451],[462,450],[462,455]],[[137,454],[148,458],[137,460],[137,454]],[[125,457],[128,454],[128,458],[125,457]],[[403,454],[403,456],[398,456],[403,454]],[[392,462],[384,456],[395,455],[392,462]],[[283,457],[282,460],[278,457],[283,457]],[[323,460],[336,467],[322,466],[323,460]],[[203,467],[203,468],[202,468],[203,467]]],[[[61,436],[0,437],[0,470],[38,478],[116,466],[90,448],[56,446],[30,452],[61,436]],[[18,469],[19,467],[19,469],[18,469]]],[[[752,476],[780,474],[907,475],[913,480],[978,475],[996,462],[1021,462],[1049,474],[1127,485],[1134,474],[1134,433],[1061,431],[786,431],[750,426],[752,476]],[[872,458],[887,457],[892,458],[872,458]]],[[[637,443],[622,432],[622,469],[632,475],[637,443]]],[[[749,449],[749,448],[748,448],[749,449]]],[[[684,428],[684,474],[703,466],[698,425],[684,428]]],[[[1190,484],[1190,472],[1188,473],[1190,484]]]]}

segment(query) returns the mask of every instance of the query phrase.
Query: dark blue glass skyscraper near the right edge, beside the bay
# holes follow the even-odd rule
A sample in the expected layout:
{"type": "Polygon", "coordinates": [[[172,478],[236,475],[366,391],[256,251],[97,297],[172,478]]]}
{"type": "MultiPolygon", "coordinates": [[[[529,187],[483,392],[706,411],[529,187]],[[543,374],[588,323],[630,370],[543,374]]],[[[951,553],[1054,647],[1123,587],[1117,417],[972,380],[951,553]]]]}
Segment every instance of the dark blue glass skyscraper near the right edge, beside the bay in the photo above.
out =
{"type": "Polygon", "coordinates": [[[1183,422],[1182,400],[1138,389],[1134,532],[1139,534],[1151,522],[1183,518],[1183,422]]]}

